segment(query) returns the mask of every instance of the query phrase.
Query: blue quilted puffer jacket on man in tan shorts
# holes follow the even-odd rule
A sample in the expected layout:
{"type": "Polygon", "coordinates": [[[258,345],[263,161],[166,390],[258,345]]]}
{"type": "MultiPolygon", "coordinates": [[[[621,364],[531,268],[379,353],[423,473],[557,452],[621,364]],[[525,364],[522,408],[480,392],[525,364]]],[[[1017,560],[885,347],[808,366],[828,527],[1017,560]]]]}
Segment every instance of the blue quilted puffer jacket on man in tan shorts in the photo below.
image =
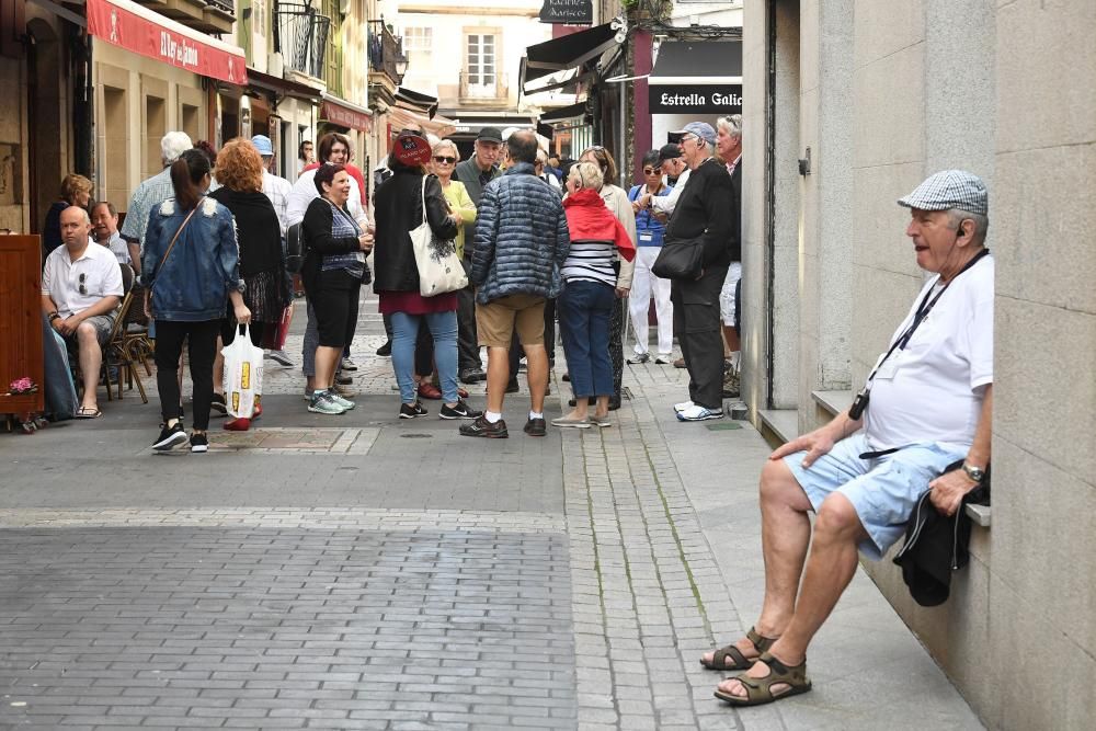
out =
{"type": "Polygon", "coordinates": [[[555,297],[559,269],[571,248],[559,194],[518,162],[488,183],[480,197],[468,278],[476,301],[507,295],[555,297]]]}

